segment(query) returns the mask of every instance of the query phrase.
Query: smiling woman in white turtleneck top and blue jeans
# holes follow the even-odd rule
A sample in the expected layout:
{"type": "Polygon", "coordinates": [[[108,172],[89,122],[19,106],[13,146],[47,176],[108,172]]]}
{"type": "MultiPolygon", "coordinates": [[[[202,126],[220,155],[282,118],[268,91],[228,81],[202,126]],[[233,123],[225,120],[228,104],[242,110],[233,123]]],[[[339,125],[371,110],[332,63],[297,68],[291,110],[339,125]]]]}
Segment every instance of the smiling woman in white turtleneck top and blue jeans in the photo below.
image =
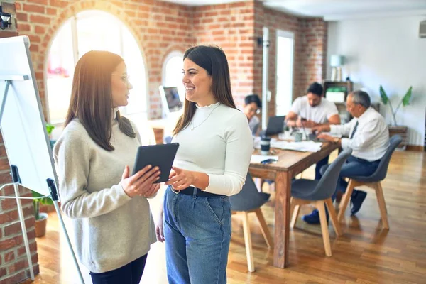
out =
{"type": "MultiPolygon", "coordinates": [[[[185,109],[173,133],[179,143],[164,197],[169,283],[226,283],[231,204],[246,180],[253,140],[236,109],[226,55],[196,46],[183,60],[185,109]]],[[[164,234],[163,234],[164,232],[164,234]]]]}

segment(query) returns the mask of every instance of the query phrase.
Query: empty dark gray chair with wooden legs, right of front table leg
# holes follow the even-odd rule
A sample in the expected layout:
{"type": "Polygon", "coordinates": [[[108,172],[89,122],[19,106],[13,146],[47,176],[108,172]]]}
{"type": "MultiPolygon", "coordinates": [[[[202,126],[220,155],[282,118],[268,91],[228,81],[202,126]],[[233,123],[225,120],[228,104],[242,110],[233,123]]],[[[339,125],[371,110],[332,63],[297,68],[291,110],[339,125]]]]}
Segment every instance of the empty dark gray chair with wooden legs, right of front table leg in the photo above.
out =
{"type": "Polygon", "coordinates": [[[294,228],[299,215],[300,205],[314,204],[320,212],[320,223],[322,231],[322,241],[324,242],[324,250],[326,256],[332,256],[332,249],[330,246],[329,231],[327,224],[327,217],[324,204],[332,219],[334,231],[337,236],[342,235],[339,222],[337,222],[336,211],[334,210],[332,195],[336,190],[337,179],[342,168],[344,161],[351,155],[352,149],[346,149],[340,153],[336,160],[329,165],[324,175],[320,180],[293,180],[291,183],[291,211],[293,216],[290,222],[290,227],[294,228]]]}

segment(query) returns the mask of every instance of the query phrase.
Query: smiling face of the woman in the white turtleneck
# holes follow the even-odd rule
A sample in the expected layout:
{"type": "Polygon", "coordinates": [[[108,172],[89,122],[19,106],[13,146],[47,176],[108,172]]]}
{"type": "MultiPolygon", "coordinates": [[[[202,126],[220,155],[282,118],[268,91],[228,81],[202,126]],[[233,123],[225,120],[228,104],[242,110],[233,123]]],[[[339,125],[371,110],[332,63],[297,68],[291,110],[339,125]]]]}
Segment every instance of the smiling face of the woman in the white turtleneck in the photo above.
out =
{"type": "Polygon", "coordinates": [[[214,103],[212,91],[212,76],[207,70],[185,58],[183,60],[183,78],[185,86],[185,97],[190,102],[195,102],[200,106],[207,106],[214,103]]]}

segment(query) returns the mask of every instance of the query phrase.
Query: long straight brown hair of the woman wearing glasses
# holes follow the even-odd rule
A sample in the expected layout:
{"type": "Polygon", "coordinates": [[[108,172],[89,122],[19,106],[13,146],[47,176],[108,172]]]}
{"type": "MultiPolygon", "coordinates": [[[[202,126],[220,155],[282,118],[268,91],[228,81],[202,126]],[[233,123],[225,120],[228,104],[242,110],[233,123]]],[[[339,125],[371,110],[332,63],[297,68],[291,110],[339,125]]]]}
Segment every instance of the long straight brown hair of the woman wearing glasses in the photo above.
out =
{"type": "MultiPolygon", "coordinates": [[[[89,51],[78,60],[65,119],[66,127],[77,118],[90,138],[107,151],[114,150],[110,143],[114,116],[111,75],[121,62],[124,62],[121,56],[99,50],[89,51]]],[[[117,111],[116,119],[121,132],[129,137],[136,137],[129,119],[121,116],[120,111],[117,111]]]]}

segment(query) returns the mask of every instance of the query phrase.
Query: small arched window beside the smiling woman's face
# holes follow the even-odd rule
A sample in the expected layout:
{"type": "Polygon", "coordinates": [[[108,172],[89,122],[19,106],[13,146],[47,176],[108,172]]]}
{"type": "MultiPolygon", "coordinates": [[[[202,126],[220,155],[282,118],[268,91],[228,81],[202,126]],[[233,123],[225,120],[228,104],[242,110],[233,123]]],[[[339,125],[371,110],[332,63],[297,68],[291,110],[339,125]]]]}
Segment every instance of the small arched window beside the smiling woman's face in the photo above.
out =
{"type": "Polygon", "coordinates": [[[182,84],[183,53],[172,51],[163,62],[162,82],[164,87],[178,87],[180,100],[185,99],[185,87],[182,84]]]}

